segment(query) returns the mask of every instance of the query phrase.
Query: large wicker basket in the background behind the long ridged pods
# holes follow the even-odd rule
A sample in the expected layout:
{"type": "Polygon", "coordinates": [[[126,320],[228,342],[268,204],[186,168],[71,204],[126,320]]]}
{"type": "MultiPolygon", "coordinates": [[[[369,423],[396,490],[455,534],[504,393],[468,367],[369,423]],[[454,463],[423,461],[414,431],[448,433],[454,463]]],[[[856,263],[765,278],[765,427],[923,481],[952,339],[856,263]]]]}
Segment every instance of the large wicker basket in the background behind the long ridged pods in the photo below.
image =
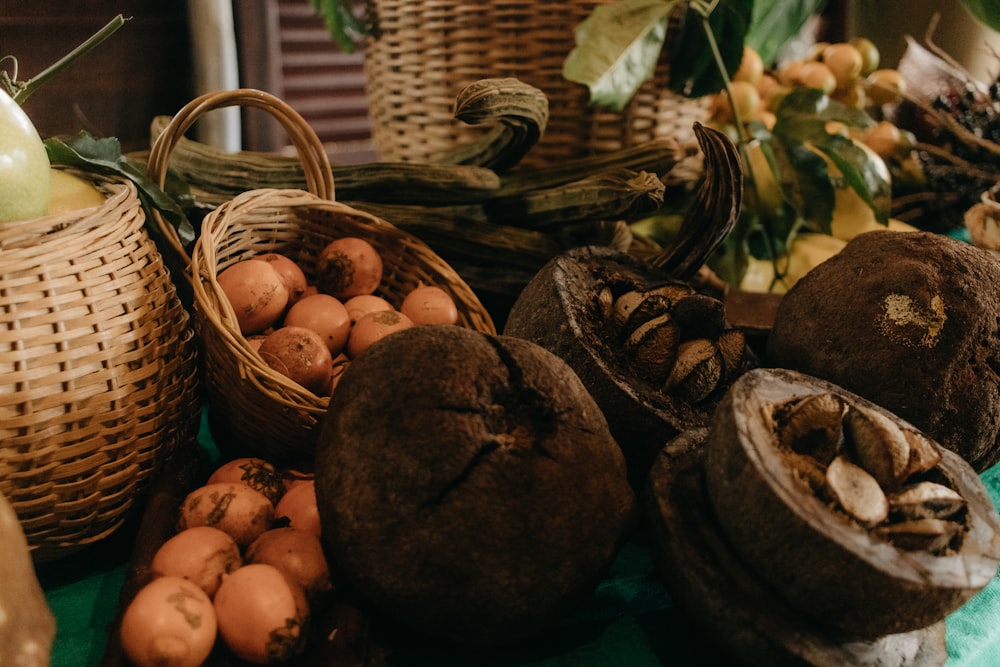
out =
{"type": "Polygon", "coordinates": [[[553,164],[664,137],[695,143],[691,128],[707,120],[707,101],[671,93],[665,62],[621,113],[590,107],[587,88],[563,77],[575,27],[611,1],[369,0],[374,32],[364,44],[364,64],[380,158],[434,161],[473,140],[484,128],[454,119],[458,92],[507,76],[549,100],[545,134],[522,164],[553,164]]]}

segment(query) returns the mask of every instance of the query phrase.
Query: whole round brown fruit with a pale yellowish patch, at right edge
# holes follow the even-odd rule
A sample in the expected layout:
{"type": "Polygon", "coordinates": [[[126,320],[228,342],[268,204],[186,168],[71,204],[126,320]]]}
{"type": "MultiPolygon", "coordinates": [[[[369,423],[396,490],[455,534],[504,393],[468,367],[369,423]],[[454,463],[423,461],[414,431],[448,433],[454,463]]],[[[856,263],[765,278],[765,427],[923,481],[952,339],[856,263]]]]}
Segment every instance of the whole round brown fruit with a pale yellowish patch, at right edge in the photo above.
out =
{"type": "Polygon", "coordinates": [[[1000,260],[940,234],[875,231],[796,283],[772,366],[906,419],[977,471],[1000,461],[1000,260]]]}

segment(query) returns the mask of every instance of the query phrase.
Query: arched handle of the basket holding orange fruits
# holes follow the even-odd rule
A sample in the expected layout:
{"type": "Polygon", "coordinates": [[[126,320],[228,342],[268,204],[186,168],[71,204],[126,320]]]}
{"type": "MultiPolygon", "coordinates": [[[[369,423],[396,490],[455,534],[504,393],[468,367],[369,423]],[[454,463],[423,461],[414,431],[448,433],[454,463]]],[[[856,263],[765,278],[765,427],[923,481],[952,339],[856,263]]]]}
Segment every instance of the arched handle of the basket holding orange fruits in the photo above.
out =
{"type": "MultiPolygon", "coordinates": [[[[333,168],[330,157],[323,148],[323,142],[315,130],[289,104],[271,93],[254,88],[237,88],[205,93],[188,102],[178,111],[164,128],[160,136],[153,142],[146,165],[149,178],[164,187],[167,180],[167,164],[170,152],[184,133],[202,115],[229,106],[250,106],[268,111],[274,116],[288,133],[288,138],[298,151],[299,160],[305,170],[306,189],[312,194],[333,200],[333,168]]],[[[163,232],[173,249],[184,259],[185,264],[191,263],[191,257],[181,243],[177,230],[156,209],[153,209],[154,222],[163,232]]]]}

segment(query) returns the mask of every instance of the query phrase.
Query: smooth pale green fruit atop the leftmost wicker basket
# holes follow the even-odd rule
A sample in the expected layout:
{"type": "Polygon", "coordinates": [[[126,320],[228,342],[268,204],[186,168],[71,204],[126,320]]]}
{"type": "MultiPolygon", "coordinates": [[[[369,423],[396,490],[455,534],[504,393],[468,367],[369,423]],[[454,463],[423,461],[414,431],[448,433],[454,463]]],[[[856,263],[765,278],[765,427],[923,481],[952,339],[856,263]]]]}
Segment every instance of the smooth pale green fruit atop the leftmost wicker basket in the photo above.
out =
{"type": "Polygon", "coordinates": [[[0,90],[0,222],[45,215],[49,157],[31,119],[0,90]]]}

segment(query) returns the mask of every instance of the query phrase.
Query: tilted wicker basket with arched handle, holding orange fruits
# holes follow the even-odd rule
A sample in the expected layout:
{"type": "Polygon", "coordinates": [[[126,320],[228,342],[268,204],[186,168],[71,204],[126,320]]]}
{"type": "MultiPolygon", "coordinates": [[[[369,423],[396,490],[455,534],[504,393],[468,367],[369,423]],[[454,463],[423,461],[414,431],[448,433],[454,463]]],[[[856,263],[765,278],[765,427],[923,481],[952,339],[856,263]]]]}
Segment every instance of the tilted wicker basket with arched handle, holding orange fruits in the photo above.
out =
{"type": "MultiPolygon", "coordinates": [[[[496,329],[472,290],[423,242],[385,220],[333,200],[333,176],[322,143],[301,116],[268,93],[248,89],[209,93],[189,103],[153,143],[150,177],[162,185],[170,152],[187,128],[206,111],[232,105],[263,108],[281,122],[302,160],[309,191],[249,190],[202,220],[189,258],[189,277],[209,423],[213,436],[230,455],[260,456],[275,465],[308,465],[329,398],[271,369],[240,334],[217,281],[227,266],[253,255],[280,252],[311,276],[315,257],[327,243],[359,236],[382,256],[385,272],[379,293],[390,302],[398,306],[421,282],[435,284],[454,297],[461,325],[491,334],[496,329]]],[[[172,228],[160,222],[169,236],[172,228]]]]}

